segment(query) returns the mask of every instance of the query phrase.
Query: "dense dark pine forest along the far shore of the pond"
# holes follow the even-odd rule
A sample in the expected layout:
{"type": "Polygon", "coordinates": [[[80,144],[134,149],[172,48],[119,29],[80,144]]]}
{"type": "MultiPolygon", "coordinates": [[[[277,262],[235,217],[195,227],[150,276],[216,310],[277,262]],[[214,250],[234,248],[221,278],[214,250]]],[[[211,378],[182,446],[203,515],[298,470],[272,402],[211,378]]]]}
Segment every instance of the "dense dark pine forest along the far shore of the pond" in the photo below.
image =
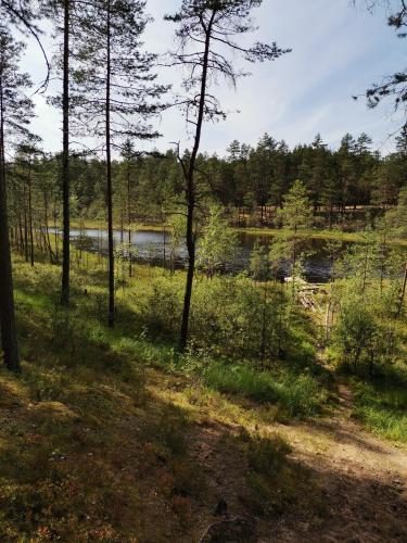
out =
{"type": "MultiPolygon", "coordinates": [[[[188,152],[183,156],[188,161],[188,152]]],[[[326,222],[344,217],[346,207],[385,207],[397,201],[407,186],[407,131],[397,138],[395,152],[381,156],[366,134],[345,135],[333,151],[317,135],[311,144],[290,150],[267,134],[255,147],[233,141],[227,155],[201,154],[196,177],[202,205],[217,201],[232,210],[240,224],[247,215],[259,224],[270,222],[269,206],[281,206],[284,194],[300,179],[307,188],[315,212],[326,222]],[[253,217],[255,217],[253,219],[253,217]]],[[[22,147],[9,164],[14,177],[10,209],[14,225],[25,223],[27,209],[40,209],[42,220],[60,224],[60,156],[22,147]]],[[[72,157],[72,213],[76,218],[105,217],[105,163],[91,155],[72,157]]],[[[141,155],[128,141],[113,162],[115,224],[163,222],[183,195],[181,166],[174,150],[141,155]]]]}

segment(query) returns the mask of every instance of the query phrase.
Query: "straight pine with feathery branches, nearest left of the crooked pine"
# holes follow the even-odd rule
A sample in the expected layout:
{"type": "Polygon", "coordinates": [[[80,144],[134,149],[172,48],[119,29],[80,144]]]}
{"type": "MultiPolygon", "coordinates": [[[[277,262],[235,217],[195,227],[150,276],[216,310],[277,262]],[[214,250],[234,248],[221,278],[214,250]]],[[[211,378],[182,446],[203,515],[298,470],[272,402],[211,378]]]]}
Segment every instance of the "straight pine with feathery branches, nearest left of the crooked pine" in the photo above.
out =
{"type": "Polygon", "coordinates": [[[130,139],[158,134],[148,119],[161,109],[167,90],[155,83],[155,56],[140,50],[149,18],[141,0],[96,0],[81,14],[82,43],[76,52],[76,113],[82,134],[102,138],[105,153],[109,223],[109,326],[115,319],[112,154],[130,139]]]}

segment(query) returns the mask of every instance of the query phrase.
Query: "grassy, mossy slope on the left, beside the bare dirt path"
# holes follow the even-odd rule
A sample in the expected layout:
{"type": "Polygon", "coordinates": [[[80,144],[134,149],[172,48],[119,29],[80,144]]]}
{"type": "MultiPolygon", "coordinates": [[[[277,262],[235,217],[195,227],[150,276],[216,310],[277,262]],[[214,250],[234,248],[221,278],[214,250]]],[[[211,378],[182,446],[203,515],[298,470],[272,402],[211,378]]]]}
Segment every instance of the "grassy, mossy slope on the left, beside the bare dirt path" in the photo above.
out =
{"type": "Polygon", "coordinates": [[[307,475],[266,427],[320,413],[328,392],[307,397],[318,377],[298,381],[303,390],[283,368],[206,370],[193,353],[149,339],[142,301],[161,269],[138,266],[117,290],[114,330],[94,256],[73,270],[68,311],[58,303],[56,266],[16,258],[14,270],[24,362],[22,376],[0,368],[1,541],[198,540],[196,509],[217,498],[196,477],[193,444],[205,427],[219,427],[217,450],[246,466],[236,477],[252,514],[300,504],[307,475]]]}

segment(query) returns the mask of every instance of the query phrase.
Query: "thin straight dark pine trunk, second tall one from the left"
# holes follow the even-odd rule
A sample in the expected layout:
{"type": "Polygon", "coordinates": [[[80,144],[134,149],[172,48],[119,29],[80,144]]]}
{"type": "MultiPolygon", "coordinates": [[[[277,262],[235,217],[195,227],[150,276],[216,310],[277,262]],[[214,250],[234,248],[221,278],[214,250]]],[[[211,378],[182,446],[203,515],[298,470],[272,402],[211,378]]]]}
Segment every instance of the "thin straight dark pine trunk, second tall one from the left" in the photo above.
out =
{"type": "Polygon", "coordinates": [[[64,1],[64,59],[63,59],[63,150],[62,150],[62,200],[63,200],[63,241],[62,241],[62,285],[61,303],[69,305],[71,275],[71,218],[69,218],[69,0],[64,1]]]}

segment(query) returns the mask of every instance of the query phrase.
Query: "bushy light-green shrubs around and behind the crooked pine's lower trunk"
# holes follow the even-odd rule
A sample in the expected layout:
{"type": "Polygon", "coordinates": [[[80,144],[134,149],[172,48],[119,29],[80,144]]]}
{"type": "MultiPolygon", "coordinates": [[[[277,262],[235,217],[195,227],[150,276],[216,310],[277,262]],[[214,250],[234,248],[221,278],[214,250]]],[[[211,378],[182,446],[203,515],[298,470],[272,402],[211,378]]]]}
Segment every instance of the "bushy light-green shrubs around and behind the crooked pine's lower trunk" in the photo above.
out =
{"type": "MultiPolygon", "coordinates": [[[[310,321],[282,286],[268,286],[267,291],[265,299],[264,289],[246,277],[198,280],[191,306],[192,345],[233,359],[258,359],[264,346],[266,364],[279,356],[308,361],[314,355],[310,321]]],[[[179,277],[155,281],[143,302],[149,330],[174,338],[181,307],[179,277]]]]}

